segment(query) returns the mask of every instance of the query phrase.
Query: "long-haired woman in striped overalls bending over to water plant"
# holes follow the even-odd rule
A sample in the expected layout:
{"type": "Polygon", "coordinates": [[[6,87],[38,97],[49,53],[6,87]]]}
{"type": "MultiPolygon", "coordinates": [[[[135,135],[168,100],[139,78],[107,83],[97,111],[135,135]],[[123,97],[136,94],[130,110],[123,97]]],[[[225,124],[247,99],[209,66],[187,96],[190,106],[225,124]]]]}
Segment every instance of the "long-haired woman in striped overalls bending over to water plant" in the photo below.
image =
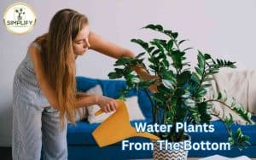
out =
{"type": "MultiPolygon", "coordinates": [[[[42,145],[44,159],[67,159],[67,121],[75,123],[75,109],[97,104],[105,112],[116,110],[111,98],[76,93],[75,60],[87,49],[113,58],[134,57],[90,31],[84,14],[73,9],[57,12],[48,33],[29,46],[14,79],[14,160],[40,159],[42,145]]],[[[152,78],[139,66],[134,70],[152,78]]]]}

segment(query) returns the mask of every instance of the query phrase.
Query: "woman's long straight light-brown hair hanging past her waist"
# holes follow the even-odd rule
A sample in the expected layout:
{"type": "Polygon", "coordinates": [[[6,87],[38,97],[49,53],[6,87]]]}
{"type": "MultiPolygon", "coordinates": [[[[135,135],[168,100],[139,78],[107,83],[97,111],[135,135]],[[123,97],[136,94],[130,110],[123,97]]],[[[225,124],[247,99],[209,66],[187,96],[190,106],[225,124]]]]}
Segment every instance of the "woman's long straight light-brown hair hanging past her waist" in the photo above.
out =
{"type": "Polygon", "coordinates": [[[73,9],[61,9],[50,21],[48,33],[35,40],[41,41],[46,76],[57,95],[61,129],[64,129],[66,119],[75,123],[77,92],[73,40],[86,25],[88,19],[84,14],[73,9]]]}

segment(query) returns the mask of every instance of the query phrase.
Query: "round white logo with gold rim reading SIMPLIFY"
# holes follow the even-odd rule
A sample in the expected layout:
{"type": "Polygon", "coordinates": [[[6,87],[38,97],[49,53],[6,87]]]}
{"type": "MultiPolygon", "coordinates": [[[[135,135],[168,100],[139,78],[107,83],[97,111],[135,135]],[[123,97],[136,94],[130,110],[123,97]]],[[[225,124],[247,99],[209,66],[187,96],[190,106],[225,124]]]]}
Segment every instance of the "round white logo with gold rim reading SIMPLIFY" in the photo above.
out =
{"type": "Polygon", "coordinates": [[[3,14],[7,30],[15,34],[26,34],[36,24],[36,14],[27,3],[13,3],[3,14]]]}

